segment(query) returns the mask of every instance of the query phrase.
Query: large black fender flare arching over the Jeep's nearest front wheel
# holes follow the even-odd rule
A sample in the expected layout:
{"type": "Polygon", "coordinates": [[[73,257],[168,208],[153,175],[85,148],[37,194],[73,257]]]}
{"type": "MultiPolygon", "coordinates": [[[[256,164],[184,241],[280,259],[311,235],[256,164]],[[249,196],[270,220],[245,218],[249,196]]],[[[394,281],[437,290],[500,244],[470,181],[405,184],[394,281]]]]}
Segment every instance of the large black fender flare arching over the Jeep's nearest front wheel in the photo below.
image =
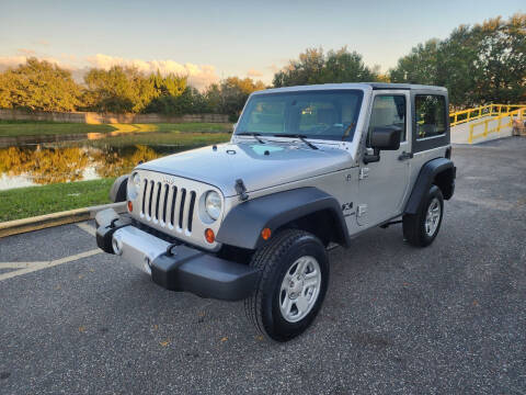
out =
{"type": "Polygon", "coordinates": [[[277,192],[237,205],[221,223],[216,240],[253,250],[265,242],[261,237],[263,228],[275,232],[291,221],[319,211],[331,212],[339,242],[347,246],[350,237],[340,203],[334,196],[313,187],[277,192]]]}

